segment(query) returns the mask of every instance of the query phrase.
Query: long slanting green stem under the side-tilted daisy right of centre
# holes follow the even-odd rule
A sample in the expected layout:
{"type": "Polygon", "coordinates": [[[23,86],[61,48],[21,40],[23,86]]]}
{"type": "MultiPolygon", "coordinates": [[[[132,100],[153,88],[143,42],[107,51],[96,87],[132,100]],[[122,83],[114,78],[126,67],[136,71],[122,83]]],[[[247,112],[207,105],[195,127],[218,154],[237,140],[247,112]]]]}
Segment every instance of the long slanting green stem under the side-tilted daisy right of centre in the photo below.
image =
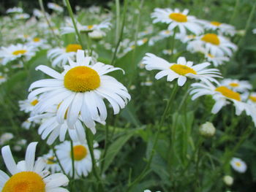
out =
{"type": "Polygon", "coordinates": [[[157,134],[156,134],[156,137],[154,139],[153,147],[152,147],[151,154],[149,156],[148,162],[146,164],[146,167],[143,169],[143,172],[141,172],[140,175],[138,177],[136,177],[136,179],[132,183],[128,184],[127,191],[131,191],[132,187],[135,184],[137,184],[138,182],[140,182],[140,180],[142,180],[144,177],[146,177],[146,175],[149,173],[148,169],[151,166],[151,161],[152,161],[154,153],[155,153],[155,147],[157,146],[157,141],[159,139],[159,132],[160,132],[160,130],[161,130],[161,128],[162,128],[162,126],[163,126],[163,124],[165,122],[165,118],[166,118],[167,112],[169,111],[171,105],[173,104],[173,99],[176,96],[177,90],[178,90],[178,85],[176,84],[176,85],[174,85],[173,91],[170,94],[170,99],[167,101],[167,105],[165,107],[165,111],[164,111],[164,113],[162,115],[162,118],[160,120],[159,126],[157,128],[157,134]]]}

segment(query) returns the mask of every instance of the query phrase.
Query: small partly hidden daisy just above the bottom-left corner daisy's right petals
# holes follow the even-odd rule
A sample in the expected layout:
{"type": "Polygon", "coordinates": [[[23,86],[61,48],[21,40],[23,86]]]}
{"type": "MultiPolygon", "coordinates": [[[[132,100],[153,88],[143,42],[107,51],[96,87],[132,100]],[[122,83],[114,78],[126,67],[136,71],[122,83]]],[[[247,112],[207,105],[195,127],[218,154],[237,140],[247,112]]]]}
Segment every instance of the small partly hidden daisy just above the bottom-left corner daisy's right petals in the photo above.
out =
{"type": "Polygon", "coordinates": [[[46,170],[49,170],[51,173],[61,172],[61,167],[57,163],[57,159],[53,153],[53,150],[50,150],[49,153],[43,155],[42,159],[45,161],[46,170]]]}

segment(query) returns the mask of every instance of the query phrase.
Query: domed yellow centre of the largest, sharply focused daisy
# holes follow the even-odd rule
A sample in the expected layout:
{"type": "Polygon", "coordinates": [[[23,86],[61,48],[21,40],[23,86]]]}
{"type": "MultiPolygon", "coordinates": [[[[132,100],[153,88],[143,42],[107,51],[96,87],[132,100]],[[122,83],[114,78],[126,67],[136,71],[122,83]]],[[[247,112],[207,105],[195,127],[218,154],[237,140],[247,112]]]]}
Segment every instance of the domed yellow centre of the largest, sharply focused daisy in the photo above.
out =
{"type": "Polygon", "coordinates": [[[99,88],[99,74],[88,66],[76,66],[64,77],[65,88],[75,92],[92,91],[99,88]]]}

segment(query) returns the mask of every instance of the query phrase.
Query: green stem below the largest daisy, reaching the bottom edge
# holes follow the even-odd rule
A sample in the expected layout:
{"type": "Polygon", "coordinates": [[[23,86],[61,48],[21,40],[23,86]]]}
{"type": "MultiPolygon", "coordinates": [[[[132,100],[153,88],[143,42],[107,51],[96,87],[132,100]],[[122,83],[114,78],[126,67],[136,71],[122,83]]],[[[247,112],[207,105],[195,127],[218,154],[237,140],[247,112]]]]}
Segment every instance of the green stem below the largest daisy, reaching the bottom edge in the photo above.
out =
{"type": "Polygon", "coordinates": [[[92,172],[94,174],[94,177],[97,179],[97,184],[99,185],[99,191],[104,191],[102,180],[99,177],[99,174],[97,172],[97,166],[96,166],[96,160],[94,157],[94,135],[91,133],[91,130],[89,128],[86,128],[86,140],[87,145],[89,147],[90,155],[91,155],[91,162],[92,162],[92,172]]]}

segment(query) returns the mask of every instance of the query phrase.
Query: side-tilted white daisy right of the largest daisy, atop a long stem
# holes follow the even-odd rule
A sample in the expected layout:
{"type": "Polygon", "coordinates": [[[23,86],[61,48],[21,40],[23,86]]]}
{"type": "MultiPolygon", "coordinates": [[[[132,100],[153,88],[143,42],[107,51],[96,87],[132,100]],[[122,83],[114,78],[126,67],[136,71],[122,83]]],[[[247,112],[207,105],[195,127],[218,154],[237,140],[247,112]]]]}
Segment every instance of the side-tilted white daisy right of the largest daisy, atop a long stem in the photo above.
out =
{"type": "Polygon", "coordinates": [[[187,81],[187,77],[202,81],[214,81],[214,77],[221,77],[218,69],[206,69],[209,63],[197,64],[193,66],[192,61],[186,61],[186,58],[179,57],[177,64],[171,64],[163,58],[159,58],[154,54],[146,53],[143,58],[143,64],[146,69],[151,71],[153,69],[161,70],[155,76],[157,80],[167,76],[167,81],[178,79],[178,85],[183,86],[187,81]]]}

